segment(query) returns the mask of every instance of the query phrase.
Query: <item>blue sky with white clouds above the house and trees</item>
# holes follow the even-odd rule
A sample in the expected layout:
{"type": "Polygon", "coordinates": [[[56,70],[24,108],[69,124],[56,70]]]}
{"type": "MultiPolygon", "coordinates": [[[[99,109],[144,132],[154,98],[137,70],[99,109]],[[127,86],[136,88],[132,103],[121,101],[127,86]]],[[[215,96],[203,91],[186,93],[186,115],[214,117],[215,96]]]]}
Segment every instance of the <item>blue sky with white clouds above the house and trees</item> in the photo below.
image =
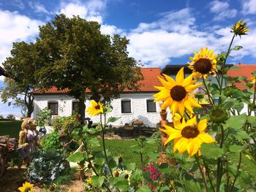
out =
{"type": "MultiPolygon", "coordinates": [[[[248,35],[236,37],[228,64],[256,64],[256,0],[0,0],[0,65],[10,56],[12,42],[34,42],[38,26],[54,15],[79,15],[101,24],[103,34],[129,39],[127,47],[144,67],[187,64],[201,47],[226,51],[230,27],[245,20],[248,35]]],[[[0,87],[3,77],[0,77],[0,87]]],[[[0,114],[20,115],[19,108],[0,103],[0,114]]]]}

